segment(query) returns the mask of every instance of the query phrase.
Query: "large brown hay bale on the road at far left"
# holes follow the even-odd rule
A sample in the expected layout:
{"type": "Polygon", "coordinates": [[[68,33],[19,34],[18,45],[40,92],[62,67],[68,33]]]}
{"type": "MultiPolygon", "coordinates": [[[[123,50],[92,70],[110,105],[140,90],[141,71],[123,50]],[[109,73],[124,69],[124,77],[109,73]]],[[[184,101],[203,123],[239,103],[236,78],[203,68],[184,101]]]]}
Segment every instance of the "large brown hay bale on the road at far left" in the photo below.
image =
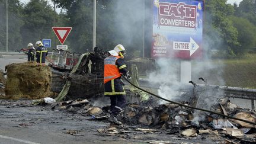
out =
{"type": "Polygon", "coordinates": [[[51,76],[49,66],[37,66],[36,63],[12,63],[7,66],[5,95],[8,98],[39,99],[50,97],[51,76]]]}

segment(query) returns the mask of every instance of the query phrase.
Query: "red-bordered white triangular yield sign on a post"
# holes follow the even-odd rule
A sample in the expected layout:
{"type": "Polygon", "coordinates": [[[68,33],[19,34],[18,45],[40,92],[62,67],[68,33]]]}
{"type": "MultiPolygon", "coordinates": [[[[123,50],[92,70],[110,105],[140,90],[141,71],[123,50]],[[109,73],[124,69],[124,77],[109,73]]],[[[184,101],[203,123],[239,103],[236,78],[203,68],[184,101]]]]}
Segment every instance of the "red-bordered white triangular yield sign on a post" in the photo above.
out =
{"type": "Polygon", "coordinates": [[[72,30],[72,27],[52,27],[60,43],[63,44],[72,30]]]}

